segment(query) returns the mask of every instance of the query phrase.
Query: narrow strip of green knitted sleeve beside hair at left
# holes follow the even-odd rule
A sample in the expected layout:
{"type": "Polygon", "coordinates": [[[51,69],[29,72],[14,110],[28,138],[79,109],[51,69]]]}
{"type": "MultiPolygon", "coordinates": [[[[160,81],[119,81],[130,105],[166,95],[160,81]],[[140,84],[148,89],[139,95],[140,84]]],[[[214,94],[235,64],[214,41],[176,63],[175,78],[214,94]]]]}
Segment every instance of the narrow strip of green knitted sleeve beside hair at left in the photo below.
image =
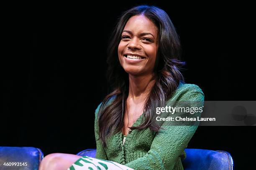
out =
{"type": "MultiPolygon", "coordinates": [[[[102,103],[100,103],[100,105],[101,104],[102,103]]],[[[108,160],[108,157],[107,157],[107,154],[104,150],[104,147],[103,147],[101,141],[99,140],[99,126],[97,125],[97,115],[98,115],[98,112],[100,110],[100,105],[95,110],[95,121],[94,121],[95,140],[96,140],[96,147],[97,147],[96,158],[97,159],[108,160]]]]}

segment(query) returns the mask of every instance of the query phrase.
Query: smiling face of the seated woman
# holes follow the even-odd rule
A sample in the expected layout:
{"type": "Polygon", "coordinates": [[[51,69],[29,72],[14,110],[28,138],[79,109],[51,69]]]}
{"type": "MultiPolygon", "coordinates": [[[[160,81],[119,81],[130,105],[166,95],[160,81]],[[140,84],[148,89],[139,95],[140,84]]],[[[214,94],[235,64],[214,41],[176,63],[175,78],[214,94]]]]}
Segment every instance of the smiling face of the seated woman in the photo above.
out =
{"type": "Polygon", "coordinates": [[[131,17],[123,29],[118,58],[131,75],[153,74],[158,50],[158,29],[143,15],[131,17]]]}

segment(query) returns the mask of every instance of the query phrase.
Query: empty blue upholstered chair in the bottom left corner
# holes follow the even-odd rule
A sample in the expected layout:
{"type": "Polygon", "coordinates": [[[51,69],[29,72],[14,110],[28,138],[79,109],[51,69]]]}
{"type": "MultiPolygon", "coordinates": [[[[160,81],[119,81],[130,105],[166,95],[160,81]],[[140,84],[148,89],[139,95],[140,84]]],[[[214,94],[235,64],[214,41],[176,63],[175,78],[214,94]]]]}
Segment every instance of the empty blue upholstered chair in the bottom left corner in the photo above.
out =
{"type": "Polygon", "coordinates": [[[0,147],[0,170],[38,170],[44,158],[33,147],[0,147]]]}

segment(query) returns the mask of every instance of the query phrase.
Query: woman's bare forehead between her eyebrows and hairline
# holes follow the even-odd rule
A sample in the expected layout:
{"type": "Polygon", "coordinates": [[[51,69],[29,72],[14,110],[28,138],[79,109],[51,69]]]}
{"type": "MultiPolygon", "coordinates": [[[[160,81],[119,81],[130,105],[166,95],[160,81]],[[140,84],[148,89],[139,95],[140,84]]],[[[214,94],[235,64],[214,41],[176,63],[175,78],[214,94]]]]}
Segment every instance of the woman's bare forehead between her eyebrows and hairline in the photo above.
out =
{"type": "Polygon", "coordinates": [[[157,35],[156,25],[143,15],[132,16],[126,23],[124,30],[132,31],[133,34],[150,32],[154,36],[157,35]]]}

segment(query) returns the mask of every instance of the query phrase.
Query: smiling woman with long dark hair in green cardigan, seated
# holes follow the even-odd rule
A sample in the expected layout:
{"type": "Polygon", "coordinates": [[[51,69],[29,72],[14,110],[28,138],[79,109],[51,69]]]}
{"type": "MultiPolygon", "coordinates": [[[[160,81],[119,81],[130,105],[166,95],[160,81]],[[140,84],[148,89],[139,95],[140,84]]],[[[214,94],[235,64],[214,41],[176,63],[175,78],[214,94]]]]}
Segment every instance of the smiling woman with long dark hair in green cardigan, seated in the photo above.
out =
{"type": "Polygon", "coordinates": [[[141,5],[123,13],[108,48],[113,92],[95,111],[96,159],[54,153],[39,170],[183,169],[197,126],[155,121],[157,107],[203,104],[202,90],[183,82],[179,55],[179,37],[163,10],[141,5]]]}

